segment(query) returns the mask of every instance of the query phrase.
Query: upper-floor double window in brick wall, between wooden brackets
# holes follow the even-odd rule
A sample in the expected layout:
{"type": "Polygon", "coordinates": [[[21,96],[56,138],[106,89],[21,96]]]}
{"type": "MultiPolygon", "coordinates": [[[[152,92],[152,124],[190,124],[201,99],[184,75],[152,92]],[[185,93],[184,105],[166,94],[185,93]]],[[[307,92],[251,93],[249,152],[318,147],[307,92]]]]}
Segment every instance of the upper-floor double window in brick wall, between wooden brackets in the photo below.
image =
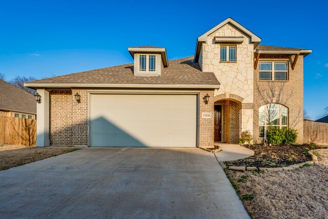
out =
{"type": "Polygon", "coordinates": [[[260,62],[259,79],[260,81],[287,81],[287,62],[260,62]]]}

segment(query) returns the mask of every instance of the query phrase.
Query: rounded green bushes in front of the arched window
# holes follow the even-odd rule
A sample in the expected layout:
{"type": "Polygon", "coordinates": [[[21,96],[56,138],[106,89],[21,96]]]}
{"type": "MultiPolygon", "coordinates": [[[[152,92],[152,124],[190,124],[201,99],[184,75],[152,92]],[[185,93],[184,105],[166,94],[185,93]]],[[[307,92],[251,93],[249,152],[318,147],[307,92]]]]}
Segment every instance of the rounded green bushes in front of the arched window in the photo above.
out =
{"type": "Polygon", "coordinates": [[[297,139],[297,130],[295,129],[279,129],[278,127],[270,127],[267,130],[268,144],[294,144],[297,139]]]}

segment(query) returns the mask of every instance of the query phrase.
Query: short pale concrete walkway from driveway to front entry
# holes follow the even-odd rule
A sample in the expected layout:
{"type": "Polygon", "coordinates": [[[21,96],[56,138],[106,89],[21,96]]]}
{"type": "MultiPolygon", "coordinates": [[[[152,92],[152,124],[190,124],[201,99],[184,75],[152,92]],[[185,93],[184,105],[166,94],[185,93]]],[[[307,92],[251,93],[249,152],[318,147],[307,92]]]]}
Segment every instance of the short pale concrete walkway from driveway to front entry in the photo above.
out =
{"type": "Polygon", "coordinates": [[[235,161],[254,155],[254,151],[237,144],[219,143],[218,145],[222,148],[222,151],[215,154],[218,161],[235,161]]]}

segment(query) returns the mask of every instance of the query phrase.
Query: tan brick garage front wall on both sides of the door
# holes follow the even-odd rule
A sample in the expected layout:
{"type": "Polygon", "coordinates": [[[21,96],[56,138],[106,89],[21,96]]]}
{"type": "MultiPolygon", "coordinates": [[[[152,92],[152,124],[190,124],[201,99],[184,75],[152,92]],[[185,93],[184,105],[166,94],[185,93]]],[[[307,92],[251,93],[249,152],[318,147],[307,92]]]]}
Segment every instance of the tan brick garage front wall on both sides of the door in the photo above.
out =
{"type": "MultiPolygon", "coordinates": [[[[88,145],[88,93],[83,89],[50,91],[50,145],[88,145]],[[80,103],[75,94],[80,95],[80,103]]],[[[223,106],[224,111],[224,106],[223,106]]],[[[199,146],[213,147],[214,143],[214,90],[199,93],[199,146]],[[202,97],[210,95],[205,104],[202,97]],[[202,118],[202,112],[212,113],[211,118],[202,118]]]]}

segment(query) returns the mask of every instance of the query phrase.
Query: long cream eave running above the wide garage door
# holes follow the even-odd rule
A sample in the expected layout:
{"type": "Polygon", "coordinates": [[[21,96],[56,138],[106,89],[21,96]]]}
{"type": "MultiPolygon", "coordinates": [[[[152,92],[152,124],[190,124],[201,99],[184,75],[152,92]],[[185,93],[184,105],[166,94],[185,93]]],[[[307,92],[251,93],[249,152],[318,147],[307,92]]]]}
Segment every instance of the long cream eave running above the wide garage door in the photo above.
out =
{"type": "Polygon", "coordinates": [[[186,88],[186,89],[219,89],[220,84],[214,85],[193,85],[193,84],[79,84],[79,83],[24,83],[25,87],[34,89],[45,88],[186,88]]]}

